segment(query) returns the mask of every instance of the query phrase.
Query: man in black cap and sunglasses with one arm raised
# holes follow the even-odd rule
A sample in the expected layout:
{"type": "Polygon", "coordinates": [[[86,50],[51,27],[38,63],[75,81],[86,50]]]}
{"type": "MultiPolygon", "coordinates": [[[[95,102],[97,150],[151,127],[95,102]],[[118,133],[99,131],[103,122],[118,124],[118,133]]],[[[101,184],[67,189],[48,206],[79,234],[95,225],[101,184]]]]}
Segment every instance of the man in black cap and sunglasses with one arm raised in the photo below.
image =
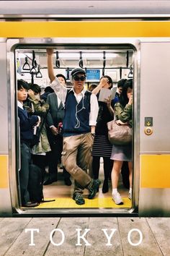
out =
{"type": "Polygon", "coordinates": [[[53,72],[53,49],[47,49],[48,76],[51,87],[65,106],[63,119],[63,166],[75,179],[73,200],[78,205],[84,204],[84,188],[89,189],[89,199],[95,197],[99,190],[99,179],[91,179],[86,169],[91,156],[94,132],[98,115],[97,97],[84,89],[86,72],[76,68],[71,72],[73,88],[61,86],[53,72]]]}

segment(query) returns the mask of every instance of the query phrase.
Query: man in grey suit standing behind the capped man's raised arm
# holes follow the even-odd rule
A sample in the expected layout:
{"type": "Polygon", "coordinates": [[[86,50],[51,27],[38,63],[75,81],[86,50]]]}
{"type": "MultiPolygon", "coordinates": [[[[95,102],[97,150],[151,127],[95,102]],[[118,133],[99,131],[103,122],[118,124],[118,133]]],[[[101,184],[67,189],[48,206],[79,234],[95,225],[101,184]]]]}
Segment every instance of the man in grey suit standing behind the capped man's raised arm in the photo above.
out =
{"type": "MultiPolygon", "coordinates": [[[[58,80],[61,85],[66,86],[66,77],[63,74],[57,74],[58,80]]],[[[63,122],[64,108],[60,98],[55,93],[50,93],[47,98],[47,103],[50,106],[50,111],[47,116],[48,123],[48,140],[50,142],[51,152],[49,161],[49,176],[45,180],[44,185],[51,184],[58,180],[58,161],[61,158],[61,152],[63,150],[63,136],[58,130],[58,124],[63,122]]],[[[67,186],[71,186],[71,179],[65,168],[63,168],[64,182],[67,186]]]]}

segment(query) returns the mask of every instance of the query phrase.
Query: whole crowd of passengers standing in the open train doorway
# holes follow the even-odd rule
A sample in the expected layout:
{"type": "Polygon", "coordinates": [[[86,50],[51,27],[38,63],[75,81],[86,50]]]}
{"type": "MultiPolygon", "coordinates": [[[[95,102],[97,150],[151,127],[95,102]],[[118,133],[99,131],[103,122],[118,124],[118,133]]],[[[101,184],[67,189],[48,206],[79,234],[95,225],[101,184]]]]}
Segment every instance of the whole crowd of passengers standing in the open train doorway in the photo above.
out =
{"type": "Polygon", "coordinates": [[[47,49],[48,76],[50,86],[43,94],[39,85],[17,81],[18,116],[21,142],[21,168],[19,184],[23,207],[35,207],[28,192],[29,166],[34,163],[42,169],[48,164],[48,177],[44,185],[58,180],[58,163],[63,165],[63,178],[71,186],[74,180],[73,200],[84,205],[84,189],[93,199],[99,192],[100,158],[103,158],[104,182],[102,192],[109,191],[108,180],[112,179],[112,200],[122,205],[123,200],[117,185],[120,172],[132,199],[132,144],[111,145],[108,139],[107,122],[113,119],[117,124],[132,126],[133,80],[120,80],[117,92],[98,101],[102,88],[112,89],[111,77],[104,75],[99,85],[84,88],[86,72],[76,68],[71,71],[73,88],[66,88],[66,77],[55,76],[53,70],[53,49],[47,49]],[[40,141],[32,145],[32,137],[41,127],[40,141]],[[89,171],[88,171],[89,170],[89,171]]]}

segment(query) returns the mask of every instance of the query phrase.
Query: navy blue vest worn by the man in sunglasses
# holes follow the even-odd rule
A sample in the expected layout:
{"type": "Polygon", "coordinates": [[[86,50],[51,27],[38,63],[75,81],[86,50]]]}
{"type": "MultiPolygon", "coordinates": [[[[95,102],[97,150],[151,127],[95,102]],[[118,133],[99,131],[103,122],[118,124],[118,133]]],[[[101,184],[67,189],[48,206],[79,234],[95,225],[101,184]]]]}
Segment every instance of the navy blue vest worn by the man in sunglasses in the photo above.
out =
{"type": "Polygon", "coordinates": [[[84,97],[77,103],[73,90],[68,91],[63,119],[63,136],[81,135],[91,131],[89,126],[91,92],[86,90],[84,97]]]}

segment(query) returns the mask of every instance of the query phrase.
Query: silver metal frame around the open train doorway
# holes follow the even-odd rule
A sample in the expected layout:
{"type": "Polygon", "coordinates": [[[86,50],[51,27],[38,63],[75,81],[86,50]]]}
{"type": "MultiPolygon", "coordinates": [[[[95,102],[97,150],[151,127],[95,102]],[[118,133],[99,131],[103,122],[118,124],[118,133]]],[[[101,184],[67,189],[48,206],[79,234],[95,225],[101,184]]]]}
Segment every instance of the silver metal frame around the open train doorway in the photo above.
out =
{"type": "Polygon", "coordinates": [[[7,76],[9,77],[7,83],[8,88],[10,88],[10,97],[9,97],[9,109],[10,109],[10,120],[9,130],[11,131],[11,137],[9,138],[9,143],[11,143],[11,148],[9,149],[9,181],[10,181],[10,192],[12,195],[12,208],[15,213],[22,213],[27,216],[136,216],[138,214],[138,199],[139,199],[139,178],[140,178],[140,40],[134,38],[18,38],[11,39],[7,38],[6,40],[7,47],[7,76]],[[76,43],[75,43],[76,42],[76,43]],[[102,210],[97,211],[89,210],[89,212],[79,211],[71,209],[66,213],[65,209],[53,210],[50,209],[50,213],[43,209],[27,209],[22,210],[19,206],[19,184],[17,182],[17,175],[19,170],[19,161],[16,159],[15,150],[17,150],[17,155],[19,155],[19,129],[17,120],[17,74],[16,74],[16,62],[15,62],[15,49],[23,48],[28,46],[32,48],[46,48],[49,46],[92,46],[95,47],[107,47],[112,48],[120,46],[120,48],[132,48],[134,51],[133,54],[133,90],[134,90],[134,107],[133,115],[134,127],[133,127],[133,202],[132,208],[126,210],[102,210]],[[43,46],[43,47],[42,47],[43,46]],[[15,135],[17,134],[16,140],[14,140],[15,135]],[[15,170],[15,171],[14,171],[15,170]]]}

